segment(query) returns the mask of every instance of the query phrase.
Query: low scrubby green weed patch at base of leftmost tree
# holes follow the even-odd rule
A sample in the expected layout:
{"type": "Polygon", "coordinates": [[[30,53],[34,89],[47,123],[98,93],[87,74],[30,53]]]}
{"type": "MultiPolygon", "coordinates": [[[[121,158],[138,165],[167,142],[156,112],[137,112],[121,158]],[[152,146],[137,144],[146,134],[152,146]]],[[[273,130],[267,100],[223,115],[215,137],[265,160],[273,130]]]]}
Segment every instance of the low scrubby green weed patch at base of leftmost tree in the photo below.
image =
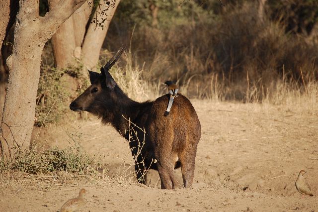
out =
{"type": "Polygon", "coordinates": [[[59,149],[33,143],[28,151],[17,149],[11,159],[1,158],[0,175],[7,173],[45,174],[66,172],[76,175],[96,175],[100,164],[96,156],[88,155],[80,146],[79,132],[66,132],[70,146],[59,149]]]}

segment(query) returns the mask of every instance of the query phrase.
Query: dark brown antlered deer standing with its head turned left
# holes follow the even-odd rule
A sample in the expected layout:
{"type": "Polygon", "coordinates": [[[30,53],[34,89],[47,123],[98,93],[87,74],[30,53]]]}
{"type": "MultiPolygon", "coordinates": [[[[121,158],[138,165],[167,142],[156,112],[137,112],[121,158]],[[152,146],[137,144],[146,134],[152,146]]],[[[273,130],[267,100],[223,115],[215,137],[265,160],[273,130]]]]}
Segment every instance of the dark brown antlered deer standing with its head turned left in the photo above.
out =
{"type": "Polygon", "coordinates": [[[71,103],[70,109],[97,115],[129,141],[139,183],[146,184],[147,170],[155,169],[162,189],[180,187],[173,170],[181,166],[183,185],[191,187],[201,136],[197,113],[181,94],[175,98],[168,116],[164,112],[169,95],[144,103],[128,98],[108,72],[122,52],[123,48],[100,69],[100,74],[89,71],[91,86],[71,103]]]}

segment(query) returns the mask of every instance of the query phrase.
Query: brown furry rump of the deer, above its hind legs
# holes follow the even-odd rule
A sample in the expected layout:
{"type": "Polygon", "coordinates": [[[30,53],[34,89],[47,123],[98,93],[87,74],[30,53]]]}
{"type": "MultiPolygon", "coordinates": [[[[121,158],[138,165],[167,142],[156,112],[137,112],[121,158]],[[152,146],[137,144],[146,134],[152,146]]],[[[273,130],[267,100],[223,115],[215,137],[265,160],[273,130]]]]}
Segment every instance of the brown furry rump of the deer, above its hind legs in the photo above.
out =
{"type": "Polygon", "coordinates": [[[164,116],[169,98],[169,95],[164,95],[153,103],[146,132],[149,133],[149,139],[155,148],[164,146],[173,152],[180,152],[186,146],[197,145],[201,136],[201,125],[194,107],[181,94],[174,99],[170,113],[164,116]]]}

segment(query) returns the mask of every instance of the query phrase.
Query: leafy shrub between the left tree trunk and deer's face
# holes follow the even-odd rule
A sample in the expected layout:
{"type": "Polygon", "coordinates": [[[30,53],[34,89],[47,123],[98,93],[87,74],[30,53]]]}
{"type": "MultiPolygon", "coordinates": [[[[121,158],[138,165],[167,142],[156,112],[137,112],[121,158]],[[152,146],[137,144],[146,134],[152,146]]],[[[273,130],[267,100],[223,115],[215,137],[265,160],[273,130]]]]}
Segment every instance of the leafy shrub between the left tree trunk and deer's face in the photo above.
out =
{"type": "Polygon", "coordinates": [[[41,68],[35,109],[36,126],[56,122],[69,111],[71,100],[87,88],[88,82],[81,76],[80,70],[81,66],[41,68]]]}

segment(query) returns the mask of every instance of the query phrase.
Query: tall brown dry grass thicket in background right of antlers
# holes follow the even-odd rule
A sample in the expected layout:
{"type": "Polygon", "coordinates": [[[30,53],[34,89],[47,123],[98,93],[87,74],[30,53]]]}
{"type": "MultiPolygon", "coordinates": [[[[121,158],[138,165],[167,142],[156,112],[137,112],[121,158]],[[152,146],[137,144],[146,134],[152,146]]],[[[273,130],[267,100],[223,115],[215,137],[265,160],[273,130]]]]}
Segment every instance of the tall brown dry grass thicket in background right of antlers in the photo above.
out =
{"type": "MultiPolygon", "coordinates": [[[[217,16],[195,8],[186,23],[137,23],[130,48],[144,67],[141,77],[150,76],[156,85],[174,80],[190,98],[271,104],[292,96],[315,99],[317,40],[286,33],[284,23],[260,18],[258,9],[244,1],[227,4],[217,16]]],[[[126,37],[110,30],[109,47],[126,37]]]]}

